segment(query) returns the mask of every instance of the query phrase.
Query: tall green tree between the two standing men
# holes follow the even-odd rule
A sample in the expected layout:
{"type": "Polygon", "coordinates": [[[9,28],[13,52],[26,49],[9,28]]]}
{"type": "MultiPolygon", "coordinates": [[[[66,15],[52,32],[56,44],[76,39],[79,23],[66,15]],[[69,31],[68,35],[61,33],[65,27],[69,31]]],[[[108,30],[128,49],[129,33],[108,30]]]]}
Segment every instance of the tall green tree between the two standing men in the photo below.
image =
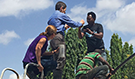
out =
{"type": "Polygon", "coordinates": [[[65,36],[66,65],[62,79],[74,79],[75,68],[87,51],[85,38],[78,38],[78,29],[69,29],[65,36]]]}

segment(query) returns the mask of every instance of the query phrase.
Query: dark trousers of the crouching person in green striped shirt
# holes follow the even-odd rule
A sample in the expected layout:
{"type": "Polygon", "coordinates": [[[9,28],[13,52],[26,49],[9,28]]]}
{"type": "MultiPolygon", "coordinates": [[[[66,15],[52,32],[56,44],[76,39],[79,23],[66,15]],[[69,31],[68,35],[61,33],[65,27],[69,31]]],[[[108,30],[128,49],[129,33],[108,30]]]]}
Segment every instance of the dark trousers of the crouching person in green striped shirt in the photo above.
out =
{"type": "Polygon", "coordinates": [[[108,69],[109,68],[107,65],[98,66],[89,70],[87,74],[80,74],[76,76],[76,79],[93,79],[93,78],[106,79],[108,69]]]}

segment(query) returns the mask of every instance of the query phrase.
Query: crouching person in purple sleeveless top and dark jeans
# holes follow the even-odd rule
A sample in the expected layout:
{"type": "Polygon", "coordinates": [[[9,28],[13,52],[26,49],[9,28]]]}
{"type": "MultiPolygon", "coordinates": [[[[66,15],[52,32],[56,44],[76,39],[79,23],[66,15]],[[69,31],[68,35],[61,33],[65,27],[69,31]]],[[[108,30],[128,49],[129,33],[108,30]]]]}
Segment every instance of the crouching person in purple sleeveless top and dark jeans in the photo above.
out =
{"type": "Polygon", "coordinates": [[[28,63],[36,63],[39,66],[30,65],[27,69],[27,76],[30,79],[39,79],[37,75],[40,75],[44,71],[46,76],[48,71],[56,68],[57,63],[52,58],[54,53],[58,53],[59,48],[51,52],[45,52],[48,46],[48,41],[55,37],[57,29],[53,25],[48,25],[45,32],[40,33],[33,42],[29,45],[25,57],[23,59],[23,67],[28,63]],[[41,58],[45,56],[45,58],[41,58]]]}

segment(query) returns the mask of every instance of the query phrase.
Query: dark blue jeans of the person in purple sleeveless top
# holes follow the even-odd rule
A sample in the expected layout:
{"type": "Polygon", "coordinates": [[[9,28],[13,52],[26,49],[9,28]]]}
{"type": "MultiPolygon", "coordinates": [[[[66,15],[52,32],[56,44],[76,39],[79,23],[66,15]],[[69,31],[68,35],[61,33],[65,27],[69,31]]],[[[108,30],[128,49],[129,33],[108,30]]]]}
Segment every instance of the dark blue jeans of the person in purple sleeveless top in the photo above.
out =
{"type": "MultiPolygon", "coordinates": [[[[27,64],[28,64],[28,62],[23,62],[24,68],[27,64]]],[[[44,76],[47,75],[47,72],[52,71],[57,66],[57,62],[52,59],[41,59],[41,64],[44,67],[44,76]]],[[[28,67],[27,73],[29,74],[29,77],[31,79],[38,79],[38,78],[36,78],[37,75],[41,74],[41,72],[39,72],[38,68],[34,65],[30,65],[28,67]]]]}

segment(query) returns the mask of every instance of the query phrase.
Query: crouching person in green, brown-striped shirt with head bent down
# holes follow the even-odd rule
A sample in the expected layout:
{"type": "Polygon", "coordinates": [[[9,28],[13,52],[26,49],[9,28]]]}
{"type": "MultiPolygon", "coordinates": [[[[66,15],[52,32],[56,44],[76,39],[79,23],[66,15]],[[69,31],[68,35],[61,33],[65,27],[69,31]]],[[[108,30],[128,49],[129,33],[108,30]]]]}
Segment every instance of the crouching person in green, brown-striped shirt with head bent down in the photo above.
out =
{"type": "Polygon", "coordinates": [[[108,69],[112,72],[114,69],[99,54],[100,50],[88,53],[79,63],[76,71],[76,79],[106,79],[108,69]],[[96,67],[98,61],[103,65],[96,67]]]}

